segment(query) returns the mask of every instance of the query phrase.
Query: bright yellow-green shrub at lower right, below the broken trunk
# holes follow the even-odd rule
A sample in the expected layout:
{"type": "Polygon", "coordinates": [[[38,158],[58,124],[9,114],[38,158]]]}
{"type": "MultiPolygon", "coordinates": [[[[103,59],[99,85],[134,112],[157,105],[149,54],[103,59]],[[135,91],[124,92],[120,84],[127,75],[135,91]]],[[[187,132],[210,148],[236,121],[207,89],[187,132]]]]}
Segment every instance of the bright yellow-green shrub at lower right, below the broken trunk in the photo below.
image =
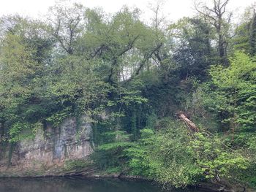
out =
{"type": "Polygon", "coordinates": [[[249,165],[239,151],[225,146],[219,137],[206,137],[196,134],[197,139],[191,141],[191,149],[195,153],[198,166],[206,178],[225,178],[238,180],[238,174],[249,165]]]}

